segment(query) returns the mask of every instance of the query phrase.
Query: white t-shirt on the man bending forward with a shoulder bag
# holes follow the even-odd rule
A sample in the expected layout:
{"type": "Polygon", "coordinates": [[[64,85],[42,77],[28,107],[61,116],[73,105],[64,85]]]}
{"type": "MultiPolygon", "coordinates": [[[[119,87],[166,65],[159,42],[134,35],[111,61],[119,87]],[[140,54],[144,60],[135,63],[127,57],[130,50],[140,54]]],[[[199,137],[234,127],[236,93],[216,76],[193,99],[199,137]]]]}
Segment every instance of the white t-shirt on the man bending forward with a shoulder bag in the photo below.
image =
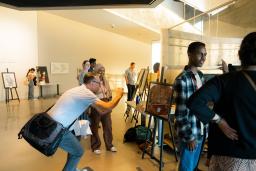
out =
{"type": "Polygon", "coordinates": [[[47,112],[55,121],[68,127],[99,98],[83,84],[66,91],[47,112]]]}

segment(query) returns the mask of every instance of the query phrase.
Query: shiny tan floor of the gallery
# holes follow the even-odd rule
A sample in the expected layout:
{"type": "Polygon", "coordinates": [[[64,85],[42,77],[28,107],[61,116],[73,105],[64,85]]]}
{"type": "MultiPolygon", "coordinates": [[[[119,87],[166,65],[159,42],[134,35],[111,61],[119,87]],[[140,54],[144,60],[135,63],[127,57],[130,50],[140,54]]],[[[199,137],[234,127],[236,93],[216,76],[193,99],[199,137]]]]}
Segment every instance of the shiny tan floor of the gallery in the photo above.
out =
{"type": "MultiPolygon", "coordinates": [[[[125,97],[124,97],[125,98],[125,97]]],[[[66,160],[66,153],[59,149],[53,157],[45,157],[34,150],[25,140],[18,140],[17,134],[24,123],[37,112],[46,110],[57,99],[0,102],[0,171],[61,171],[66,160]]],[[[136,144],[123,143],[124,132],[134,125],[124,121],[124,100],[112,113],[114,145],[117,153],[105,151],[102,142],[102,154],[96,155],[90,150],[90,141],[82,140],[85,154],[78,167],[90,167],[94,171],[157,171],[158,163],[148,156],[141,159],[141,151],[136,144]]],[[[100,129],[100,131],[102,131],[100,129]]],[[[101,134],[102,135],[102,134],[101,134]]],[[[156,149],[157,150],[157,149],[156,149]]],[[[177,163],[171,153],[164,153],[164,171],[176,170],[177,163]]],[[[207,170],[204,157],[200,168],[207,170]]]]}

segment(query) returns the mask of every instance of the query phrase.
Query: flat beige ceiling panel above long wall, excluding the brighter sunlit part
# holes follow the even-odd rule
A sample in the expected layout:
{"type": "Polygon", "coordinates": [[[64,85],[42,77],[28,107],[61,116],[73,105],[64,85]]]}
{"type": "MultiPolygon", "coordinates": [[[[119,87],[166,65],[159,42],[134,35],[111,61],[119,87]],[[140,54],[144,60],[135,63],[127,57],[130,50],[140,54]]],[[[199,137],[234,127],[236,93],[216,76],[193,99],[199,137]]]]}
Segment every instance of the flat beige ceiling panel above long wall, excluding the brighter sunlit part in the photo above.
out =
{"type": "Polygon", "coordinates": [[[121,34],[145,43],[151,43],[153,40],[160,39],[159,33],[103,9],[50,10],[44,12],[121,34]]]}

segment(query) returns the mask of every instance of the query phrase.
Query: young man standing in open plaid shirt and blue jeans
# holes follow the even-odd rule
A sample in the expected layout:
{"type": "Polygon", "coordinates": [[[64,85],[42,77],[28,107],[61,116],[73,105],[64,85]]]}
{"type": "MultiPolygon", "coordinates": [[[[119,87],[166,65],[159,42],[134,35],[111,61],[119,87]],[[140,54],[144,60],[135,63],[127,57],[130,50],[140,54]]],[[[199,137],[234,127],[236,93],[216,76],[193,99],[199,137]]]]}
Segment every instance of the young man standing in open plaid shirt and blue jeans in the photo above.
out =
{"type": "Polygon", "coordinates": [[[174,83],[175,119],[180,146],[179,171],[197,170],[206,135],[206,125],[203,125],[186,106],[189,97],[204,83],[203,73],[198,70],[198,67],[202,67],[206,59],[205,44],[191,43],[187,54],[188,65],[177,76],[174,83]]]}

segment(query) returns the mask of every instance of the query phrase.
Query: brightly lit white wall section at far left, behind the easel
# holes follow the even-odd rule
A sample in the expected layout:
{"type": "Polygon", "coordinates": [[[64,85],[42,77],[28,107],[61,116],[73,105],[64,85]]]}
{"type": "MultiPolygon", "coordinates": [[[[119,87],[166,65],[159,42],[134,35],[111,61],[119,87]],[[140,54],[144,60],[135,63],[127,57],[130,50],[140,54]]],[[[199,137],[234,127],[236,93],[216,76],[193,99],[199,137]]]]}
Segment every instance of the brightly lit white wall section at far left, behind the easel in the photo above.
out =
{"type": "MultiPolygon", "coordinates": [[[[37,54],[37,14],[0,7],[0,72],[16,73],[18,94],[27,98],[23,80],[27,70],[35,67],[37,54]]],[[[0,100],[5,99],[3,81],[0,81],[0,100]]]]}

